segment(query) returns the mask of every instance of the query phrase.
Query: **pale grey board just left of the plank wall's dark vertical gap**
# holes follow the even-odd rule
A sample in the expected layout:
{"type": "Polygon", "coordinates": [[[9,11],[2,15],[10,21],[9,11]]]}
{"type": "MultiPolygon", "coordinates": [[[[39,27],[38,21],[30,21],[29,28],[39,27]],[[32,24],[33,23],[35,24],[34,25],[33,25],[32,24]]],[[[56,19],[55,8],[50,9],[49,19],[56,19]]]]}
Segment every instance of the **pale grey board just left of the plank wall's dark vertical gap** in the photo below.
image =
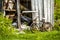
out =
{"type": "Polygon", "coordinates": [[[44,11],[43,11],[43,3],[42,3],[42,0],[37,0],[38,2],[38,18],[39,18],[39,27],[41,27],[42,26],[42,18],[43,18],[43,13],[44,13],[44,11]]]}

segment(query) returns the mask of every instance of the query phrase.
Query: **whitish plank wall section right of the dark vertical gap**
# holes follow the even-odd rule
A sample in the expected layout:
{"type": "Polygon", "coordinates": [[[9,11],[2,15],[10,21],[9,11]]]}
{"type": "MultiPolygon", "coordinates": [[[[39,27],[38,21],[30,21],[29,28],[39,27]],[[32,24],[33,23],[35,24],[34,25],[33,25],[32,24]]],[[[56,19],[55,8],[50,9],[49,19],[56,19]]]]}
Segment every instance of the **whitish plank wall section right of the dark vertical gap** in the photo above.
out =
{"type": "Polygon", "coordinates": [[[44,0],[44,15],[45,22],[51,22],[54,24],[54,1],[53,0],[44,0]]]}

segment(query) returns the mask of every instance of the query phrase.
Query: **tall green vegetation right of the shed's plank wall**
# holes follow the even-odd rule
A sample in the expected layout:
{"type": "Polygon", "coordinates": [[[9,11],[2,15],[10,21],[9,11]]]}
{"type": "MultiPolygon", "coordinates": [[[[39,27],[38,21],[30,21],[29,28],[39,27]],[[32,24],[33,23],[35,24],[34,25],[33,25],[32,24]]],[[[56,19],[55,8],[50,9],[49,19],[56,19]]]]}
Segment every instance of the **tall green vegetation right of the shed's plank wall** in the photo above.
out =
{"type": "Polygon", "coordinates": [[[55,0],[54,5],[55,29],[60,31],[60,0],[55,0]]]}

